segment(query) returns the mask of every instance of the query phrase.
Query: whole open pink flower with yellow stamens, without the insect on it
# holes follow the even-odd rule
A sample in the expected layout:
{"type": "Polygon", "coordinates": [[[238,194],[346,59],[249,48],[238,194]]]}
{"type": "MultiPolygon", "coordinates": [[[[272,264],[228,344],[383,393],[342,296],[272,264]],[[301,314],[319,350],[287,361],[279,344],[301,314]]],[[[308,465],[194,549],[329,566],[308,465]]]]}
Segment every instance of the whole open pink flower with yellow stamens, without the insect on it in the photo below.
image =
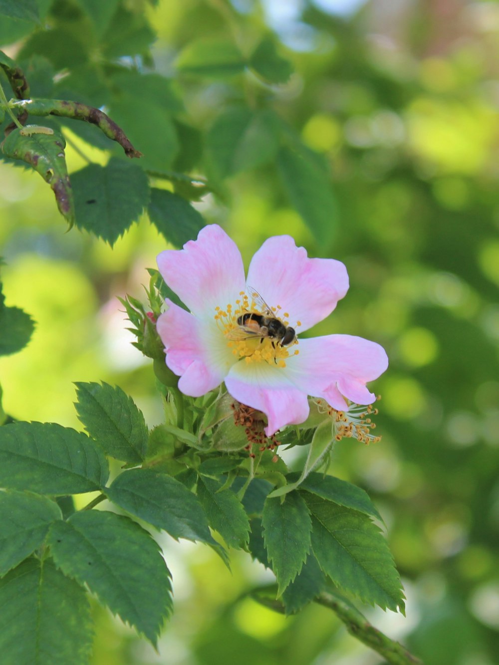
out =
{"type": "Polygon", "coordinates": [[[158,255],[167,285],[190,312],[166,300],[168,310],[157,329],[166,364],[178,376],[178,388],[198,397],[225,381],[242,404],[267,416],[267,436],[307,419],[307,396],[347,410],[344,397],[371,404],[366,382],[388,366],[385,350],[347,334],[298,338],[283,346],[275,338],[242,335],[238,317],[250,310],[257,291],[275,317],[297,336],[327,317],[347,293],[345,265],[335,259],[309,259],[289,235],[271,237],[249,264],[248,280],[236,246],[218,225],[204,227],[184,249],[158,255]],[[249,285],[249,297],[247,284],[249,285]]]}

